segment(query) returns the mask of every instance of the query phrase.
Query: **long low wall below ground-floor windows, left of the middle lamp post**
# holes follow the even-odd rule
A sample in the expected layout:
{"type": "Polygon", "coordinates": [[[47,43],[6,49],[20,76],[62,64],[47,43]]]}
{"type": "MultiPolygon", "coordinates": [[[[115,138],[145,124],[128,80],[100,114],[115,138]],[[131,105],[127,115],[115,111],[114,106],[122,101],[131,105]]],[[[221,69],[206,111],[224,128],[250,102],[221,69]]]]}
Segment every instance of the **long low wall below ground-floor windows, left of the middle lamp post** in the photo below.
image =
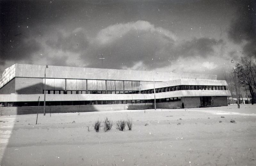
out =
{"type": "MultiPolygon", "coordinates": [[[[144,110],[153,109],[152,103],[144,104],[111,104],[111,105],[63,105],[46,106],[46,113],[66,113],[66,112],[92,112],[92,111],[116,111],[116,110],[144,110]],[[79,111],[78,111],[79,110],[79,111]]],[[[37,106],[31,107],[0,107],[2,115],[20,115],[37,113],[37,106]]],[[[39,106],[39,113],[44,113],[44,107],[39,106]]]]}

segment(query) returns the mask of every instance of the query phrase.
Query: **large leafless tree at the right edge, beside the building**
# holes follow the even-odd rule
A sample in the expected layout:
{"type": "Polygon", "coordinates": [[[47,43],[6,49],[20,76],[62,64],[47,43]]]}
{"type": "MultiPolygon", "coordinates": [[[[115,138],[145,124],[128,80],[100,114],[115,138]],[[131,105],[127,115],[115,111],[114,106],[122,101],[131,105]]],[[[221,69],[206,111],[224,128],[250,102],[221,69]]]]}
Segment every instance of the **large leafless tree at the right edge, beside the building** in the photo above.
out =
{"type": "Polygon", "coordinates": [[[243,57],[240,63],[236,64],[238,80],[250,91],[252,95],[252,104],[256,101],[256,60],[253,57],[243,57]]]}

